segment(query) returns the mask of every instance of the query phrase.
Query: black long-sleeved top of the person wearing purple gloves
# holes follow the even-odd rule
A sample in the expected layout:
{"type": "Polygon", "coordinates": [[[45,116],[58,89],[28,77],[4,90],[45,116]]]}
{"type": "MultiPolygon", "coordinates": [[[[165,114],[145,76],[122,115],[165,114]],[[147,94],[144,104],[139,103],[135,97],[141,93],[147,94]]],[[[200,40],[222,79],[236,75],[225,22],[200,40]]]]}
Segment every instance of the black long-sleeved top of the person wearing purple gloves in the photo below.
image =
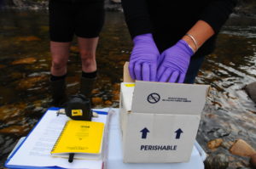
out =
{"type": "Polygon", "coordinates": [[[218,31],[229,18],[236,0],[122,0],[131,37],[152,33],[160,52],[172,47],[198,20],[212,26],[209,38],[197,54],[210,54],[218,31]]]}

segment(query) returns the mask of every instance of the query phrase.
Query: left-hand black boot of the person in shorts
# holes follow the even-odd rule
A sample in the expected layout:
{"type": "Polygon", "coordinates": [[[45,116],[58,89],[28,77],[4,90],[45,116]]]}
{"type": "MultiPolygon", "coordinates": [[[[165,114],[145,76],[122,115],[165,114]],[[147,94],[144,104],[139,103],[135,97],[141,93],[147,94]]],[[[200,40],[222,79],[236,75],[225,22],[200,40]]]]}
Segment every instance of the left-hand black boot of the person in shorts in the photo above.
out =
{"type": "Polygon", "coordinates": [[[51,86],[51,94],[53,102],[52,104],[55,107],[61,107],[67,101],[66,94],[66,81],[65,79],[57,80],[57,81],[49,81],[51,86]]]}

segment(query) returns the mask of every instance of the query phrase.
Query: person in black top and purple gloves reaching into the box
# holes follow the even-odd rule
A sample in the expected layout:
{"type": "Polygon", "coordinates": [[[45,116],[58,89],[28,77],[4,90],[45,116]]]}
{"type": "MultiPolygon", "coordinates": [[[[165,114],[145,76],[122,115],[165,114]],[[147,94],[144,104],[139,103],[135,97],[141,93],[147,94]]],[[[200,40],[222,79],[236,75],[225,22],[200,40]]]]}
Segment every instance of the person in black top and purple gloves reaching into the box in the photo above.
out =
{"type": "Polygon", "coordinates": [[[131,78],[194,83],[236,0],[122,0],[134,46],[131,78]]]}

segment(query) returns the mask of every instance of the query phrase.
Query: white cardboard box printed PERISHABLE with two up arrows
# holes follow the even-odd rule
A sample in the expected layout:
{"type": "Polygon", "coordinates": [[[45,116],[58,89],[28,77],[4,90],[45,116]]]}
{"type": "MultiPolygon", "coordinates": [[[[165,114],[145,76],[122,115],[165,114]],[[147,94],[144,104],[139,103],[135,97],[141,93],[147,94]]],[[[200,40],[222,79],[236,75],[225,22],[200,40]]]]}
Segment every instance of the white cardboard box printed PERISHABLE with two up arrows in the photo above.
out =
{"type": "Polygon", "coordinates": [[[119,104],[124,162],[189,161],[209,86],[131,82],[127,66],[119,104]]]}

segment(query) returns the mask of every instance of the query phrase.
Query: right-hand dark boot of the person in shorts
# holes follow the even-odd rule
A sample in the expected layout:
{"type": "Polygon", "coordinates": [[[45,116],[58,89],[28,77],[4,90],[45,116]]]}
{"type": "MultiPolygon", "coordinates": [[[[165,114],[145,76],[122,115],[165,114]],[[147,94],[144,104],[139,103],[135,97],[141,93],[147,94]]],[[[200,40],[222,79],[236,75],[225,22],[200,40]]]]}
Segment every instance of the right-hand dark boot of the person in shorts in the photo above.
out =
{"type": "Polygon", "coordinates": [[[94,78],[86,78],[86,77],[81,77],[81,86],[80,86],[80,93],[84,94],[86,98],[91,97],[91,91],[94,87],[94,83],[96,81],[96,77],[94,78]]]}

